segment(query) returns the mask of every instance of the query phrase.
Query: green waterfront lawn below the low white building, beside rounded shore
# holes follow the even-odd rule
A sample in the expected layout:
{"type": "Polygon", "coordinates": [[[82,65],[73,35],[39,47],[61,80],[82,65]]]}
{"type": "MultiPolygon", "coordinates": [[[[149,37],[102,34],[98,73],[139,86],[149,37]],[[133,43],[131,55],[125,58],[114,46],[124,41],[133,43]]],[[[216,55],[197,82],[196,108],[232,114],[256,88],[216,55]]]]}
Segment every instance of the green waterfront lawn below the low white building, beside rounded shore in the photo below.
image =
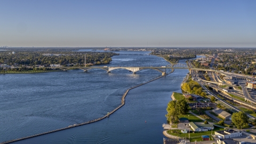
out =
{"type": "MultiPolygon", "coordinates": [[[[224,130],[223,128],[221,127],[217,127],[217,126],[214,126],[214,130],[212,131],[204,131],[204,132],[195,132],[195,133],[189,133],[190,137],[196,137],[196,136],[201,136],[201,135],[209,135],[211,136],[211,134],[214,134],[215,131],[222,131],[224,130]]],[[[181,133],[181,130],[168,130],[167,133],[171,134],[171,135],[175,135],[175,136],[178,136],[178,137],[187,137],[188,138],[188,133],[181,133]],[[175,132],[176,131],[176,132],[175,132]],[[178,132],[177,132],[178,131],[178,132]],[[172,133],[173,132],[173,133],[172,133]]],[[[201,137],[199,138],[193,138],[193,139],[190,139],[190,142],[193,142],[193,141],[197,141],[197,140],[202,140],[201,137]]]]}

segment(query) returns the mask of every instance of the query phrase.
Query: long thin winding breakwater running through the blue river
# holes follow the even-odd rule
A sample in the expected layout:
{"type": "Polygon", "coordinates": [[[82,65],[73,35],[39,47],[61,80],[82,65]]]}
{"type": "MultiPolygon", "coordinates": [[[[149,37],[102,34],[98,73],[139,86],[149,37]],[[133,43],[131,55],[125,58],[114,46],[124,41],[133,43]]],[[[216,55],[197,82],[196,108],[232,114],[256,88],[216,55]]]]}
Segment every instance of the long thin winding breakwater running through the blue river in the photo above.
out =
{"type": "MultiPolygon", "coordinates": [[[[172,69],[172,71],[166,75],[169,75],[171,73],[173,73],[174,69],[172,69]]],[[[77,127],[77,126],[81,126],[81,125],[85,125],[85,124],[90,124],[90,123],[94,123],[94,122],[98,122],[98,121],[101,121],[102,119],[108,117],[109,115],[115,113],[116,110],[118,110],[119,108],[123,107],[125,105],[125,97],[126,95],[129,93],[130,90],[136,88],[136,87],[139,87],[141,85],[144,85],[144,84],[147,84],[147,83],[150,83],[150,82],[153,82],[155,81],[156,79],[159,79],[161,77],[164,77],[166,75],[163,75],[163,76],[159,76],[155,79],[152,79],[148,82],[145,82],[145,83],[142,83],[142,84],[139,84],[137,86],[134,86],[134,87],[131,87],[130,89],[127,89],[125,91],[125,93],[123,94],[123,97],[122,97],[122,100],[121,100],[121,105],[119,105],[117,108],[115,108],[114,110],[112,110],[110,113],[108,113],[107,115],[103,116],[103,117],[100,117],[100,118],[97,118],[97,119],[94,119],[92,121],[87,121],[87,122],[84,122],[84,123],[80,123],[80,124],[74,124],[74,125],[70,125],[70,126],[67,126],[67,127],[63,127],[61,129],[57,129],[57,130],[53,130],[53,131],[49,131],[49,132],[44,132],[44,133],[39,133],[39,134],[35,134],[35,135],[31,135],[29,137],[23,137],[23,138],[19,138],[19,139],[14,139],[14,140],[9,140],[9,141],[5,141],[5,142],[2,142],[1,144],[5,144],[5,143],[11,143],[11,142],[15,142],[15,141],[20,141],[20,140],[25,140],[25,139],[29,139],[29,138],[34,138],[34,137],[38,137],[40,135],[44,135],[44,134],[49,134],[49,133],[53,133],[53,132],[58,132],[58,131],[62,131],[62,130],[67,130],[67,129],[70,129],[70,128],[73,128],[73,127],[77,127]]]]}

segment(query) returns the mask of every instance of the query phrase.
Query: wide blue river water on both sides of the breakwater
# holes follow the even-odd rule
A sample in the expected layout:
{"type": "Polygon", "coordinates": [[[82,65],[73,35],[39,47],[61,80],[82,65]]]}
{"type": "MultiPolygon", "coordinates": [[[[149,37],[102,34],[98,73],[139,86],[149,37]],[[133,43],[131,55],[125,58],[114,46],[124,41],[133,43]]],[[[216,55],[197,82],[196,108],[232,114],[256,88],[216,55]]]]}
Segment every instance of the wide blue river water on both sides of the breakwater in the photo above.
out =
{"type": "MultiPolygon", "coordinates": [[[[120,55],[112,57],[106,66],[169,64],[150,52],[117,53],[120,55]]],[[[181,92],[180,84],[187,73],[187,69],[175,69],[131,90],[125,105],[102,121],[14,143],[162,143],[167,103],[172,92],[181,92]]],[[[0,142],[102,117],[121,104],[127,89],[161,75],[152,69],[135,75],[123,69],[109,74],[94,69],[87,73],[70,70],[0,75],[0,142]]]]}

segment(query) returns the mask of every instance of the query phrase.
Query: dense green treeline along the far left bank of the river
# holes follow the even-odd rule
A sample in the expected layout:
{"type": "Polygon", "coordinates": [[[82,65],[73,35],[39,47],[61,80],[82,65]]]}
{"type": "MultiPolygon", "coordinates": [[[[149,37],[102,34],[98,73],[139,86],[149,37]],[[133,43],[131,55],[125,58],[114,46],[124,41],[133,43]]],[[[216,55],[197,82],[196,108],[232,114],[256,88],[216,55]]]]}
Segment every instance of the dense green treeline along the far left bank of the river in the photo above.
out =
{"type": "Polygon", "coordinates": [[[94,65],[107,64],[111,61],[113,55],[119,55],[113,52],[11,52],[2,51],[0,52],[0,63],[6,63],[7,65],[14,65],[17,63],[18,66],[35,66],[35,65],[50,65],[60,64],[63,66],[73,63],[76,66],[84,66],[84,55],[86,54],[86,63],[94,63],[94,65]],[[43,55],[43,54],[60,54],[60,55],[43,55]]]}

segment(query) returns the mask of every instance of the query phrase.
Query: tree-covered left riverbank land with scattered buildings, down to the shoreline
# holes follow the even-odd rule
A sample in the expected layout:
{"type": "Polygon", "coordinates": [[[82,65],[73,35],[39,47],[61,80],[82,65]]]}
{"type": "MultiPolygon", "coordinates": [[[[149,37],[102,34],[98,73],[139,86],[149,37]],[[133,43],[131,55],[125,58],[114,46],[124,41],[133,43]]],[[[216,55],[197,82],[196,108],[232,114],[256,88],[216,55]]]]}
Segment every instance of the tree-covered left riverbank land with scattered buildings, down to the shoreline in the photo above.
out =
{"type": "Polygon", "coordinates": [[[49,71],[46,67],[84,67],[110,63],[114,52],[79,52],[79,51],[0,51],[0,73],[10,71],[49,71]]]}

